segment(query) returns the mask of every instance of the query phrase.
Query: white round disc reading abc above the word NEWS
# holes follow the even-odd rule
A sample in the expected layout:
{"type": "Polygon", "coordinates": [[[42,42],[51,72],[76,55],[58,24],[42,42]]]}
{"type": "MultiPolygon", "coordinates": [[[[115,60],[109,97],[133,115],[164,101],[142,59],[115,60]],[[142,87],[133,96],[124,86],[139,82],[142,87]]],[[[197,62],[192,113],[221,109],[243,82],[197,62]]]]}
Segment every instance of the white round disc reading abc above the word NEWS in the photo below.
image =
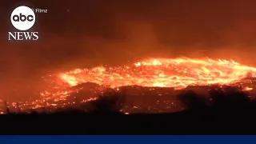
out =
{"type": "Polygon", "coordinates": [[[11,13],[10,22],[17,30],[29,30],[34,26],[34,11],[28,6],[18,6],[11,13]]]}

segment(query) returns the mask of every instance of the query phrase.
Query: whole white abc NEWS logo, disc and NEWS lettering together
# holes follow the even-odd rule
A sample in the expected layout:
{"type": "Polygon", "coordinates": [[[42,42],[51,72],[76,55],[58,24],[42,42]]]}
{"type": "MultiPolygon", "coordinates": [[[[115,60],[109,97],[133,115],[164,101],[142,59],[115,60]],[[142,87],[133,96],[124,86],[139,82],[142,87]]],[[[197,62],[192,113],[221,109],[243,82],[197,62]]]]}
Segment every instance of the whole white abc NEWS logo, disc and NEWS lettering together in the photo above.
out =
{"type": "Polygon", "coordinates": [[[10,22],[17,32],[8,32],[8,40],[38,40],[38,32],[27,32],[35,22],[34,10],[28,6],[18,6],[10,15],[10,22]]]}

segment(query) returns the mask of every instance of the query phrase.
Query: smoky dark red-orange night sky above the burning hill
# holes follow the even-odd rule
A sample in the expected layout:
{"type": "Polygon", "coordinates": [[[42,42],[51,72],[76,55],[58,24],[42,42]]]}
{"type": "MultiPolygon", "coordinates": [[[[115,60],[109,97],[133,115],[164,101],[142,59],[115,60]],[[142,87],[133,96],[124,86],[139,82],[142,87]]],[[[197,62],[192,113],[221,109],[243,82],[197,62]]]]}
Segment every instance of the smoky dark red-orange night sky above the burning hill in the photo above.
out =
{"type": "Polygon", "coordinates": [[[254,65],[255,7],[253,0],[2,0],[0,87],[30,85],[24,79],[53,70],[202,57],[198,50],[254,65]],[[7,31],[14,31],[10,14],[18,5],[48,10],[36,15],[37,42],[7,41],[7,31]]]}

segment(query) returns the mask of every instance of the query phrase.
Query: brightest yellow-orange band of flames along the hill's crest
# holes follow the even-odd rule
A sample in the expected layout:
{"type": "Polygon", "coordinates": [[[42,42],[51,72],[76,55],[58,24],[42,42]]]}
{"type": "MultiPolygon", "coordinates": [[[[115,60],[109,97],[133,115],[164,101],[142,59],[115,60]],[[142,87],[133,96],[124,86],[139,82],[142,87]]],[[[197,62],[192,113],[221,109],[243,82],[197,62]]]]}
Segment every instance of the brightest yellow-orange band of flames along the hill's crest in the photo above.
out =
{"type": "Polygon", "coordinates": [[[191,85],[229,84],[248,74],[254,76],[255,72],[256,68],[233,60],[149,58],[131,66],[71,70],[58,74],[58,82],[69,86],[94,82],[112,88],[138,85],[182,89],[191,85]]]}

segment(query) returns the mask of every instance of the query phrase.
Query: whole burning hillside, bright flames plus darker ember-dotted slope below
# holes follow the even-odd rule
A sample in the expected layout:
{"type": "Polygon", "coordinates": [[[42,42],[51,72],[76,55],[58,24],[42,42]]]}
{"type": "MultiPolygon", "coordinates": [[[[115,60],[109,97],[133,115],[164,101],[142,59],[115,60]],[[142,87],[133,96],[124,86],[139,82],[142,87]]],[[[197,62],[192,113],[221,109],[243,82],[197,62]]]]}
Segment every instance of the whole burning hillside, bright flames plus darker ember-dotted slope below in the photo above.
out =
{"type": "Polygon", "coordinates": [[[43,76],[48,88],[33,102],[1,101],[1,114],[42,113],[74,109],[88,111],[98,98],[116,97],[122,111],[159,113],[183,110],[179,94],[232,86],[250,98],[256,96],[256,68],[233,60],[192,58],[149,58],[126,66],[98,66],[43,76]],[[150,97],[150,98],[149,98],[150,97]],[[120,100],[121,98],[121,100],[120,100]],[[124,100],[125,99],[125,100],[124,100]]]}

